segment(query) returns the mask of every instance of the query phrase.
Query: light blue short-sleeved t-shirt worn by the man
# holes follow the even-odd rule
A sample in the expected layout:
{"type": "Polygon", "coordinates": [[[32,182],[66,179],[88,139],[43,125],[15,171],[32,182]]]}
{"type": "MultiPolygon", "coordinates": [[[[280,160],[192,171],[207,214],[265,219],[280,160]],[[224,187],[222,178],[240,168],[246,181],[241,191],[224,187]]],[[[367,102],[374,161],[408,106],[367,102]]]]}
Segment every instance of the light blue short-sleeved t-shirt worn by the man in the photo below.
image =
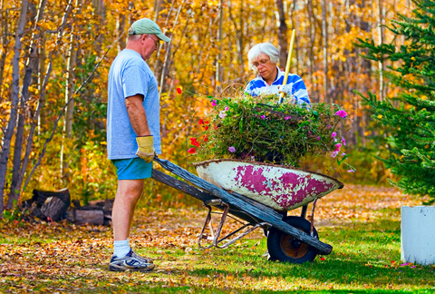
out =
{"type": "Polygon", "coordinates": [[[154,149],[160,148],[160,98],[156,78],[139,53],[124,49],[111,64],[108,81],[107,157],[110,160],[138,157],[138,143],[125,98],[143,95],[143,108],[154,139],[154,149]]]}

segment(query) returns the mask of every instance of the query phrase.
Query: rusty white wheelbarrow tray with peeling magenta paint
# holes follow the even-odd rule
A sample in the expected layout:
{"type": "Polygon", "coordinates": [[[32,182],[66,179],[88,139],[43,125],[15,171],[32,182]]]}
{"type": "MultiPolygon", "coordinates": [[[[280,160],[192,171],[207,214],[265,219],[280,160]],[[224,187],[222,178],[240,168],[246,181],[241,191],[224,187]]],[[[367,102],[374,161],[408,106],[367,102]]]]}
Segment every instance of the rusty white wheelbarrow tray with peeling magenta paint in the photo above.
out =
{"type": "Polygon", "coordinates": [[[201,179],[277,211],[291,211],[342,189],[343,183],[314,171],[236,160],[194,163],[201,179]]]}

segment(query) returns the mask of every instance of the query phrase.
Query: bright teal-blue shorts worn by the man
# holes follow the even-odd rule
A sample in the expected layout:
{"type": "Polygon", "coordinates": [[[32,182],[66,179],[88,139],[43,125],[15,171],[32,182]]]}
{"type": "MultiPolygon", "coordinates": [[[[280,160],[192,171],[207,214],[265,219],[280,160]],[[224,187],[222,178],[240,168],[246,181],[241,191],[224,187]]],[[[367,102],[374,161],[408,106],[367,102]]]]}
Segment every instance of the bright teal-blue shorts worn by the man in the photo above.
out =
{"type": "Polygon", "coordinates": [[[118,180],[140,180],[151,177],[152,162],[147,163],[139,157],[111,160],[111,162],[116,166],[118,180]]]}

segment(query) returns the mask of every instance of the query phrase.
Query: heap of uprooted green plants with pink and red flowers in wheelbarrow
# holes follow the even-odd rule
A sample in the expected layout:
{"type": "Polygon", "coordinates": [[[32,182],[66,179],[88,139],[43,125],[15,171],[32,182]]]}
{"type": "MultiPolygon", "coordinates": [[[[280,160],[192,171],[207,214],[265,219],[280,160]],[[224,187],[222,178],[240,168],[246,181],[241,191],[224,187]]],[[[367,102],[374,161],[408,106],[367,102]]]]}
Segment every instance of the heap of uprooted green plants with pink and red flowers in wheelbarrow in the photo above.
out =
{"type": "MultiPolygon", "coordinates": [[[[278,104],[275,95],[213,98],[208,117],[199,120],[203,132],[190,141],[198,160],[240,159],[299,166],[305,156],[335,158],[346,144],[347,113],[336,104],[278,104]],[[343,123],[342,123],[343,124],[343,123]]],[[[343,161],[342,156],[338,156],[343,161]]]]}

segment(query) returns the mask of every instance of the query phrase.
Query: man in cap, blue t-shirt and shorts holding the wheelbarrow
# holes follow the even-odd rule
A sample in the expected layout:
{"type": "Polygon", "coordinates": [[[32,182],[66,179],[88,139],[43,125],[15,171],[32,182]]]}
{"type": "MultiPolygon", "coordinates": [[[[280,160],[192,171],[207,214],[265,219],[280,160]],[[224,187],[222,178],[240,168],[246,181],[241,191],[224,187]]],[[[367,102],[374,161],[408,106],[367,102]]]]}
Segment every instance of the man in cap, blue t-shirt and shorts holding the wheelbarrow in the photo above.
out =
{"type": "Polygon", "coordinates": [[[109,270],[150,271],[152,260],[130,247],[134,208],[150,178],[154,153],[160,154],[160,98],[156,78],[145,62],[161,41],[170,39],[159,25],[142,18],[131,25],[127,46],[109,72],[107,153],[117,168],[118,189],[112,210],[113,255],[109,270]]]}

